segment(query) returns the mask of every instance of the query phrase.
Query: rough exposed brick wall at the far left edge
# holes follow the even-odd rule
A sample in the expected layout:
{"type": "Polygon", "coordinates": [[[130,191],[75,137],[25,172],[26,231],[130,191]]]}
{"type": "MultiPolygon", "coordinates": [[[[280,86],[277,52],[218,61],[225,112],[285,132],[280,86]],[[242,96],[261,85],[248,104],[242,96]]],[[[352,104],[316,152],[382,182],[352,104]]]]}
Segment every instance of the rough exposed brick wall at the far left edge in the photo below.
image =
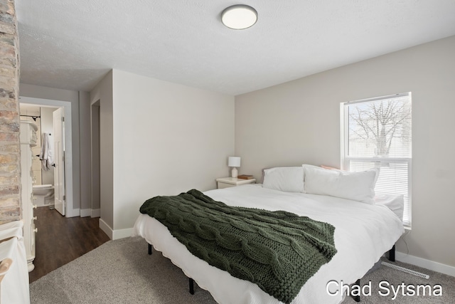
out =
{"type": "Polygon", "coordinates": [[[21,219],[19,56],[14,0],[0,0],[0,224],[21,219]]]}

